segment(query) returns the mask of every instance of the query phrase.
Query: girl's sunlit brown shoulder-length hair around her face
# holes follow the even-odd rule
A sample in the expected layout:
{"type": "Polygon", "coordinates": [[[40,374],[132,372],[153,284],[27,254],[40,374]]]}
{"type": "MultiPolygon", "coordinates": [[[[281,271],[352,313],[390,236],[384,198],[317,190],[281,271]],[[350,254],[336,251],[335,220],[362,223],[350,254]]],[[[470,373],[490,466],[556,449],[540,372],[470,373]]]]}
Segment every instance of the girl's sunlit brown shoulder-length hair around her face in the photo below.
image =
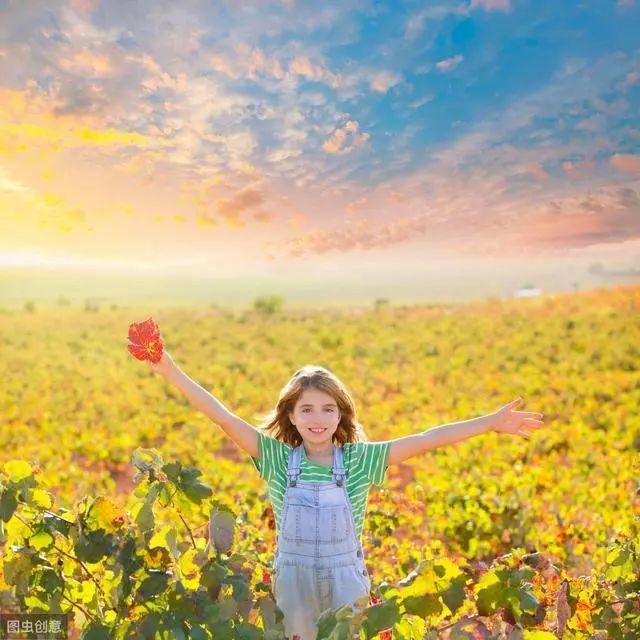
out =
{"type": "Polygon", "coordinates": [[[302,436],[289,419],[293,409],[305,389],[318,389],[328,393],[338,405],[340,422],[333,434],[333,442],[344,445],[346,442],[365,442],[367,436],[358,422],[356,405],[346,386],[328,369],[308,364],[298,369],[289,382],[282,388],[278,403],[258,426],[272,437],[286,442],[291,447],[302,444],[302,436]]]}

